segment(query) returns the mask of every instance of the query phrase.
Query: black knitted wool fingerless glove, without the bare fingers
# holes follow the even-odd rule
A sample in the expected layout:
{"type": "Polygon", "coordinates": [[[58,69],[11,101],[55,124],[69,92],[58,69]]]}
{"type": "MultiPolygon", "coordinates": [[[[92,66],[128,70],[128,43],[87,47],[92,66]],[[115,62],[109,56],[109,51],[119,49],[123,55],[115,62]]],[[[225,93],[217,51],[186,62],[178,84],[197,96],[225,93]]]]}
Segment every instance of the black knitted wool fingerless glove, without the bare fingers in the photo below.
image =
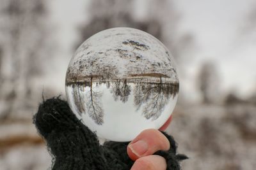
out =
{"type": "MultiPolygon", "coordinates": [[[[128,170],[134,163],[126,152],[128,142],[108,141],[100,145],[95,133],[82,124],[67,102],[59,97],[40,104],[34,124],[52,153],[52,169],[128,170]]],[[[174,139],[165,132],[163,134],[170,141],[170,150],[155,154],[166,159],[168,170],[180,169],[179,161],[188,157],[176,154],[174,139]]]]}

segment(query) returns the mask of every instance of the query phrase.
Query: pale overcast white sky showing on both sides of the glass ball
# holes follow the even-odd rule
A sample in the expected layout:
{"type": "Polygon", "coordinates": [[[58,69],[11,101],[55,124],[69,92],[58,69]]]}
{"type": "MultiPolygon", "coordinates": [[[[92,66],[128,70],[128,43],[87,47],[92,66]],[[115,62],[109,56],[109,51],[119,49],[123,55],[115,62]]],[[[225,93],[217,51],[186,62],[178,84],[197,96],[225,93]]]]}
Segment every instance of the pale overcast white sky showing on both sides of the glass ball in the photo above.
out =
{"type": "MultiPolygon", "coordinates": [[[[60,41],[58,77],[64,92],[65,72],[78,38],[77,27],[86,22],[84,0],[56,0],[51,3],[52,23],[56,26],[56,38],[60,41]]],[[[239,32],[246,23],[244,18],[253,7],[254,0],[179,0],[174,1],[182,15],[180,31],[195,34],[196,57],[188,63],[186,80],[195,85],[199,64],[211,59],[218,64],[223,90],[236,89],[244,96],[256,89],[256,36],[241,38],[239,32]]],[[[255,5],[256,3],[254,3],[255,5]]],[[[256,31],[256,28],[255,28],[256,31]]],[[[56,81],[56,80],[55,80],[56,81]]],[[[183,86],[192,91],[193,86],[183,86]]],[[[195,91],[195,90],[194,90],[195,91]]]]}

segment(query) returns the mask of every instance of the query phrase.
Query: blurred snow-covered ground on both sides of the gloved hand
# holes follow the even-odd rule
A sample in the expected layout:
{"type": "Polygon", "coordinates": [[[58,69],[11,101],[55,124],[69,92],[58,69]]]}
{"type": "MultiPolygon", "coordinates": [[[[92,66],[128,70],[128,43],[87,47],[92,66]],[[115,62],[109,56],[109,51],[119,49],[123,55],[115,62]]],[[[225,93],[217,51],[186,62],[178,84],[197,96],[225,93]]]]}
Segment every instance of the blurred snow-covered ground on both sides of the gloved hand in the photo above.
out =
{"type": "MultiPolygon", "coordinates": [[[[256,106],[247,104],[177,106],[167,131],[179,144],[179,153],[189,157],[182,169],[255,169],[255,113],[256,106]]],[[[40,137],[33,124],[1,124],[0,132],[1,170],[51,167],[46,146],[34,139],[40,137]],[[22,135],[22,142],[3,145],[4,139],[22,135]]]]}

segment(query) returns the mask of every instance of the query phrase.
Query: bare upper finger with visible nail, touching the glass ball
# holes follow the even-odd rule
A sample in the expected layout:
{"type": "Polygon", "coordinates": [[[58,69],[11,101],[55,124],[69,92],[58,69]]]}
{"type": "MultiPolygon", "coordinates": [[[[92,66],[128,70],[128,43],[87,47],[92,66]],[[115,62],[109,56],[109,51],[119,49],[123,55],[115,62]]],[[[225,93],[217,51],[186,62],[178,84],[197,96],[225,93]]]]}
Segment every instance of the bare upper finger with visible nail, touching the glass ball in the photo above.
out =
{"type": "Polygon", "coordinates": [[[147,129],[129,143],[127,153],[132,160],[137,160],[158,150],[169,150],[169,148],[170,142],[164,134],[156,129],[147,129]]]}

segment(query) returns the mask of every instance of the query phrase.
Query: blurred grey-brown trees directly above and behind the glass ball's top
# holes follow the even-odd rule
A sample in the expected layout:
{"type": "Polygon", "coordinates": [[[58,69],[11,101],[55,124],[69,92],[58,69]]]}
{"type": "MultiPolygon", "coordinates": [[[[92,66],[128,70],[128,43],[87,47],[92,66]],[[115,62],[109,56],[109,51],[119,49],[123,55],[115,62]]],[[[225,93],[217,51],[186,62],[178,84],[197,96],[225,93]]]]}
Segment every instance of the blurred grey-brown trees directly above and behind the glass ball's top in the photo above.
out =
{"type": "Polygon", "coordinates": [[[111,27],[133,27],[152,34],[166,45],[175,59],[186,57],[192,49],[191,34],[179,34],[180,15],[173,8],[173,1],[149,0],[144,4],[145,17],[136,18],[136,1],[94,0],[88,6],[89,21],[81,25],[80,45],[93,34],[111,27]]]}

